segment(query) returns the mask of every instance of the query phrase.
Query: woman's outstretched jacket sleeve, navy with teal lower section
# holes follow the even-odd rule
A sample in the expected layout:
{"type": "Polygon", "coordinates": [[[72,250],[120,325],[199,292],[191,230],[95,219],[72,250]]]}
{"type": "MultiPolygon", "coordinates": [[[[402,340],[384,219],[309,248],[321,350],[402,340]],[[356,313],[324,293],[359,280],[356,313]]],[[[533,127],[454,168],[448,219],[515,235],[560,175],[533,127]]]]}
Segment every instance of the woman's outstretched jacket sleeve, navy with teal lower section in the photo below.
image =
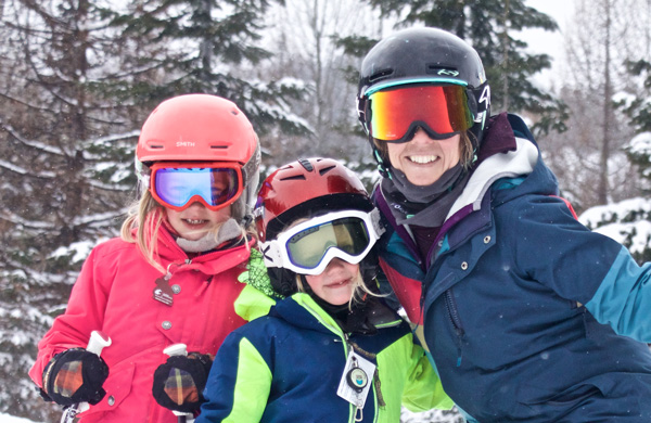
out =
{"type": "Polygon", "coordinates": [[[585,305],[620,335],[651,342],[651,265],[578,222],[562,201],[532,195],[508,218],[514,264],[559,296],[585,305]]]}

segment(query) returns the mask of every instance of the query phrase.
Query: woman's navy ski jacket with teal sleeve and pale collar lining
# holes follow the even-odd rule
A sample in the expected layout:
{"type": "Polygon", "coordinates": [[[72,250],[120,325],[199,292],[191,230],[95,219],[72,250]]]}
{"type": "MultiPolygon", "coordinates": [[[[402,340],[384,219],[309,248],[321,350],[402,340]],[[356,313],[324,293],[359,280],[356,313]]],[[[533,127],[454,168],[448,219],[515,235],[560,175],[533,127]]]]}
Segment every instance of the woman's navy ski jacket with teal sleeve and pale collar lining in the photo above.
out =
{"type": "Polygon", "coordinates": [[[472,419],[651,422],[650,265],[576,220],[508,119],[516,150],[474,170],[426,262],[375,191],[382,268],[472,419]]]}

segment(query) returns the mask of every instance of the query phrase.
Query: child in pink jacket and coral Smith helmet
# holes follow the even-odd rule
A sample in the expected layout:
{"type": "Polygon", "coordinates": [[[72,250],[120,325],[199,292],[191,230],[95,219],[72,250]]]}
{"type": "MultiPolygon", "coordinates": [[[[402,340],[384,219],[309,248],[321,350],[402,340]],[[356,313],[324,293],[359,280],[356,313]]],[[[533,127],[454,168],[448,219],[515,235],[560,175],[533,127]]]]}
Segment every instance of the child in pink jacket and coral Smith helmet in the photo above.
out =
{"type": "Polygon", "coordinates": [[[238,277],[255,243],[243,221],[259,159],[257,136],[230,101],[189,94],[152,112],[136,150],[144,188],[137,209],[120,239],[92,251],[65,313],[39,343],[29,375],[46,399],[91,403],[81,422],[176,422],[152,382],[163,350],[183,343],[196,352],[162,369],[183,374],[187,390],[177,399],[163,374],[155,399],[199,408],[206,354],[252,317],[235,306],[255,292],[238,277]],[[94,330],[112,341],[101,358],[85,349],[94,330]]]}

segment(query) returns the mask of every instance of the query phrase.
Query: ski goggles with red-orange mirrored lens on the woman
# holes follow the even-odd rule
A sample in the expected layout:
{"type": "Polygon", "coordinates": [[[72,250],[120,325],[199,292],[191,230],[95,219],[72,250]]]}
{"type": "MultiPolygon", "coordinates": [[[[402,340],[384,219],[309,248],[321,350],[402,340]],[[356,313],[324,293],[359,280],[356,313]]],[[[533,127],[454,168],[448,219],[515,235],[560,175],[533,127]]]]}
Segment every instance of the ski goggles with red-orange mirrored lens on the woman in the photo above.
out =
{"type": "Polygon", "coordinates": [[[464,86],[401,86],[367,97],[367,130],[381,141],[409,141],[417,127],[434,139],[445,139],[474,124],[464,86]]]}

